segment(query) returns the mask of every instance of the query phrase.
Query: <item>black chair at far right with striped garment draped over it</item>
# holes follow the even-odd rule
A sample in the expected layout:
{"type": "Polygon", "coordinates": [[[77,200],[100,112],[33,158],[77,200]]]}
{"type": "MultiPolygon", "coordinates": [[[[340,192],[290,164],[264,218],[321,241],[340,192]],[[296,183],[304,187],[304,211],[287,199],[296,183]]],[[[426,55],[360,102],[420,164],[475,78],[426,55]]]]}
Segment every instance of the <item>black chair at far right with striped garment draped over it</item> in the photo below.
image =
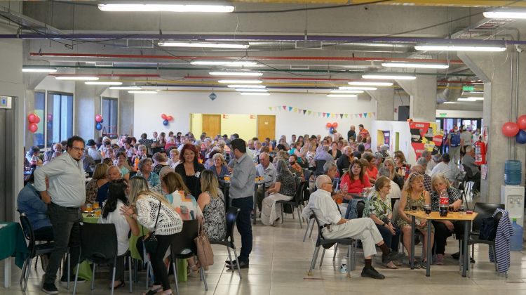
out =
{"type": "MultiPolygon", "coordinates": [[[[497,271],[497,255],[495,255],[495,240],[480,240],[480,228],[482,227],[483,219],[487,217],[492,217],[495,213],[495,210],[498,208],[505,209],[504,204],[494,204],[494,203],[475,203],[473,211],[477,212],[478,215],[473,222],[471,223],[471,233],[469,235],[468,245],[471,245],[471,256],[475,254],[475,244],[487,244],[490,247],[490,251],[493,253],[495,258],[495,271],[497,271]]],[[[495,216],[497,217],[497,216],[495,216]]],[[[500,221],[500,216],[495,220],[495,226],[497,227],[500,221]]],[[[467,252],[467,251],[466,251],[467,252]]]]}

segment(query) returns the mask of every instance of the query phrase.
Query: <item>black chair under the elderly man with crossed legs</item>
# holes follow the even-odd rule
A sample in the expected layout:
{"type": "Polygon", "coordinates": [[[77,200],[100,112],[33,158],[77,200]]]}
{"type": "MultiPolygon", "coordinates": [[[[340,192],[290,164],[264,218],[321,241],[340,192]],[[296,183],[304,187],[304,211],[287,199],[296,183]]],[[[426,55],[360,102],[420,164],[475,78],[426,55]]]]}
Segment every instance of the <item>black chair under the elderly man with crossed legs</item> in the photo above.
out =
{"type": "Polygon", "coordinates": [[[318,253],[320,251],[320,247],[323,247],[323,252],[321,254],[320,260],[321,267],[323,263],[325,249],[329,249],[335,244],[345,244],[349,246],[349,249],[347,251],[347,277],[351,277],[351,268],[353,270],[356,268],[356,240],[352,239],[351,237],[344,237],[340,239],[325,239],[322,235],[324,225],[321,224],[318,218],[316,218],[316,214],[314,214],[314,212],[312,213],[312,216],[316,221],[316,224],[318,225],[318,239],[316,239],[316,247],[314,248],[314,253],[312,255],[311,267],[309,268],[309,272],[307,273],[307,275],[312,275],[312,270],[316,265],[316,261],[318,260],[318,253]]]}

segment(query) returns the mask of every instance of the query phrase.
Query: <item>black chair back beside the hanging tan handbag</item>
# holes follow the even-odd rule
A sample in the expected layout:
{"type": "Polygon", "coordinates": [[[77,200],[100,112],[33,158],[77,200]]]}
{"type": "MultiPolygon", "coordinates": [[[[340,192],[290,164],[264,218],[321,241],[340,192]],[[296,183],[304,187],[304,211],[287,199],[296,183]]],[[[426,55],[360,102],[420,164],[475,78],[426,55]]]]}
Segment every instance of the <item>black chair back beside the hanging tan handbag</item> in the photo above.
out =
{"type": "Polygon", "coordinates": [[[197,254],[194,239],[198,235],[199,221],[197,219],[182,222],[182,230],[172,235],[170,247],[175,258],[187,258],[197,254]]]}

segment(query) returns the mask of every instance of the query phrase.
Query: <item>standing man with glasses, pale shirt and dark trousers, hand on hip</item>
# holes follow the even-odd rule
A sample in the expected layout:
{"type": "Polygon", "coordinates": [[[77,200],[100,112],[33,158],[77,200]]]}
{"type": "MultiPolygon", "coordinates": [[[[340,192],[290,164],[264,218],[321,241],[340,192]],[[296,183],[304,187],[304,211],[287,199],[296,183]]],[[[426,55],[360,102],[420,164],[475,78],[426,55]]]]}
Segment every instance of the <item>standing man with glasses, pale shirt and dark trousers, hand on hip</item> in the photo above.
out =
{"type": "MultiPolygon", "coordinates": [[[[81,206],[86,202],[86,178],[81,161],[84,144],[81,137],[72,136],[67,140],[67,152],[34,171],[34,187],[40,192],[42,201],[48,204],[55,237],[55,247],[49,258],[42,286],[42,291],[46,294],[58,294],[55,279],[68,245],[71,249],[70,265],[76,265],[79,260],[79,222],[82,221],[81,206]],[[46,178],[49,188],[46,186],[46,178]]],[[[60,282],[74,278],[72,267],[69,268],[72,273],[67,273],[66,261],[62,267],[60,282]]]]}

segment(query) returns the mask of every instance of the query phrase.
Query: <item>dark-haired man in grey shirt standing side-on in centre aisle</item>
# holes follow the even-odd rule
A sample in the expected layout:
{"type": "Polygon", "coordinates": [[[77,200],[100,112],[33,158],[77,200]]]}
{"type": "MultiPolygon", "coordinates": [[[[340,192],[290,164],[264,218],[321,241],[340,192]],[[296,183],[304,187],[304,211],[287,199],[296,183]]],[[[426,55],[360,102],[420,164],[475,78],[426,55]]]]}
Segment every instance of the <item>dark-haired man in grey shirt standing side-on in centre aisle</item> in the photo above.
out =
{"type": "MultiPolygon", "coordinates": [[[[256,169],[252,159],[246,155],[247,145],[245,140],[236,138],[231,142],[236,162],[234,171],[230,178],[229,194],[232,199],[232,206],[238,207],[239,211],[236,225],[241,235],[241,252],[238,262],[240,268],[248,268],[248,256],[252,251],[252,223],[250,223],[250,213],[254,209],[254,181],[256,169]]],[[[225,261],[227,264],[230,261],[225,261]]],[[[237,265],[227,265],[231,270],[236,270],[237,265]]]]}

